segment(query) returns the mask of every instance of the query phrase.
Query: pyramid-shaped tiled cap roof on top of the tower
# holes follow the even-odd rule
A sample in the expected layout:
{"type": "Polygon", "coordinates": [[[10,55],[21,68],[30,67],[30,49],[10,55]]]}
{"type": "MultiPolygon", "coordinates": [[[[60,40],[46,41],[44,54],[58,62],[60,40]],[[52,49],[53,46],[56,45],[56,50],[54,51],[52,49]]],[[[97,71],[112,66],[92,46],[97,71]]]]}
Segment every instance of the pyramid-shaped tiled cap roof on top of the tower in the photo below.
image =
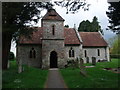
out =
{"type": "Polygon", "coordinates": [[[55,11],[55,9],[48,10],[48,12],[43,16],[42,20],[64,21],[64,19],[55,11]]]}

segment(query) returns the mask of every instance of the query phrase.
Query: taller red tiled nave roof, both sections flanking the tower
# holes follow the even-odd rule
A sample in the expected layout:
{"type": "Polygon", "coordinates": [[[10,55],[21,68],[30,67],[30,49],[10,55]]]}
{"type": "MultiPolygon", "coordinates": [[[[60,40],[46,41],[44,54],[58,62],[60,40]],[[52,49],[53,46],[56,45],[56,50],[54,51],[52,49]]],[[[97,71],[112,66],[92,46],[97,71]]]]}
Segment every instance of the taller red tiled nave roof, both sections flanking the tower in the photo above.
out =
{"type": "MultiPolygon", "coordinates": [[[[42,44],[43,28],[37,28],[37,31],[33,32],[32,38],[27,39],[25,37],[20,38],[20,44],[42,44]]],[[[64,29],[65,44],[80,44],[78,37],[73,28],[64,29]]]]}

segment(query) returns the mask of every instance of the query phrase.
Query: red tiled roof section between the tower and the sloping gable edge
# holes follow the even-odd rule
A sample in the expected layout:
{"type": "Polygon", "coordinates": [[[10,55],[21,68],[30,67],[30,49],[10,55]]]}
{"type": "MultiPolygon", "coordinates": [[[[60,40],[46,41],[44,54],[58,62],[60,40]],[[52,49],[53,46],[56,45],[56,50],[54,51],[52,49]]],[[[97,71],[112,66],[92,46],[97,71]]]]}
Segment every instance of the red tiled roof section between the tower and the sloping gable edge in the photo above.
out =
{"type": "Polygon", "coordinates": [[[73,28],[64,29],[65,44],[80,44],[77,34],[73,28]]]}

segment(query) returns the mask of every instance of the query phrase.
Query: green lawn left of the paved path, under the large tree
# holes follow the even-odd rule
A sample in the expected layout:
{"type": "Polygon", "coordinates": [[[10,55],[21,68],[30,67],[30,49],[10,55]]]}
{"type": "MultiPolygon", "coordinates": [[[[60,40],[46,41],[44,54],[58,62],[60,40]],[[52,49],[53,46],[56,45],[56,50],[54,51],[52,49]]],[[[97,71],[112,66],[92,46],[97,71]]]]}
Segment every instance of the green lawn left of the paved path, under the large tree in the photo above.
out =
{"type": "Polygon", "coordinates": [[[2,72],[2,88],[43,88],[48,70],[25,66],[18,74],[16,61],[10,61],[10,68],[2,72]]]}

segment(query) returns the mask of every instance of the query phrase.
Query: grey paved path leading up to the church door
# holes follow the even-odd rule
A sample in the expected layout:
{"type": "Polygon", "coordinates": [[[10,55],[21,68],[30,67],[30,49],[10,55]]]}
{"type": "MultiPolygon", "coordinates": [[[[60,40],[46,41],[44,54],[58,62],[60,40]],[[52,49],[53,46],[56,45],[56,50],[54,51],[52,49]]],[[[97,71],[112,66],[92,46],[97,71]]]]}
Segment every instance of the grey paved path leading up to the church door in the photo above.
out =
{"type": "Polygon", "coordinates": [[[67,88],[57,68],[49,69],[45,88],[67,88]]]}

